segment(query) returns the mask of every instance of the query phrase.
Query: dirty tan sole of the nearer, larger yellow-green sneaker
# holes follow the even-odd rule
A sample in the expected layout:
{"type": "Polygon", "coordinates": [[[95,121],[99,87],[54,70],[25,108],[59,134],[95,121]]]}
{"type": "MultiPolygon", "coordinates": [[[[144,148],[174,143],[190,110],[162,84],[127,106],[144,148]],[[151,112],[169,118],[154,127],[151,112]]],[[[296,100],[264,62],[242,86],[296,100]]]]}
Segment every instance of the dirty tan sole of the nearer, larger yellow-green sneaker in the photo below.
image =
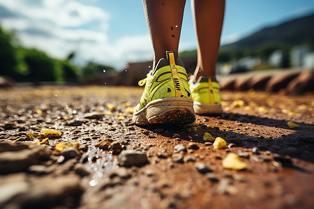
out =
{"type": "Polygon", "coordinates": [[[193,100],[189,98],[163,98],[149,102],[146,107],[133,114],[133,123],[189,124],[195,121],[193,100]]]}

